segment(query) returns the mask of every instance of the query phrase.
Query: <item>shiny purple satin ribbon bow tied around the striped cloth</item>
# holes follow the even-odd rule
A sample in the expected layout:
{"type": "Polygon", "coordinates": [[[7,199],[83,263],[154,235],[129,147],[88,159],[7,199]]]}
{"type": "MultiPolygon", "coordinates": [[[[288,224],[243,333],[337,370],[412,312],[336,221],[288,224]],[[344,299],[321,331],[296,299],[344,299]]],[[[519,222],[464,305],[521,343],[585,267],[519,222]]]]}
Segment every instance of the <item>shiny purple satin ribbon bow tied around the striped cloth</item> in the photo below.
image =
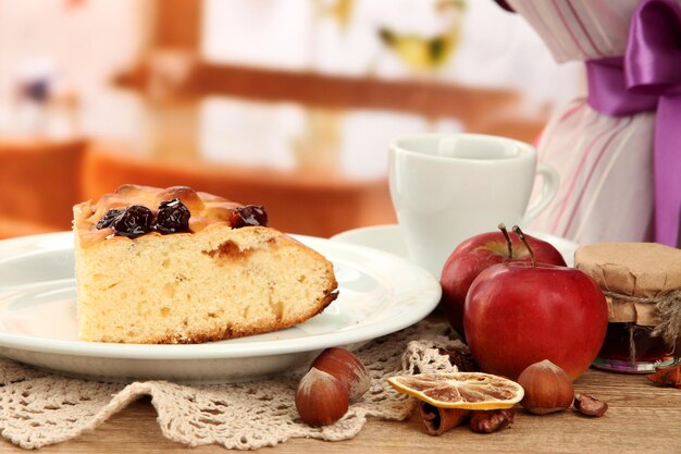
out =
{"type": "MultiPolygon", "coordinates": [[[[642,0],[624,57],[586,62],[589,103],[623,116],[656,110],[655,241],[677,246],[681,214],[681,5],[642,0]]],[[[680,245],[681,246],[681,245],[680,245]]]]}

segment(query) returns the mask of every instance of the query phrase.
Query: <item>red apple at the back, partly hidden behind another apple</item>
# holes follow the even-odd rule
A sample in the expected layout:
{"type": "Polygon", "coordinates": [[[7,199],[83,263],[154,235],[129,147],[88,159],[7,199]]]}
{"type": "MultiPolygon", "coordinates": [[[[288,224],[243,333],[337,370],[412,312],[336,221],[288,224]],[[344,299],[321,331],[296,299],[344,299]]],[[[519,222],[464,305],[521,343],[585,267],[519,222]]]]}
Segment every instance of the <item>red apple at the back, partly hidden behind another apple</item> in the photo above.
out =
{"type": "MultiPolygon", "coordinates": [[[[482,233],[466,240],[451,253],[442,270],[441,307],[451,328],[461,336],[463,332],[463,304],[473,280],[486,268],[509,261],[531,261],[530,251],[517,237],[506,232],[504,224],[499,232],[482,233]]],[[[543,263],[565,267],[562,255],[550,243],[524,235],[534,250],[536,260],[543,263]]]]}

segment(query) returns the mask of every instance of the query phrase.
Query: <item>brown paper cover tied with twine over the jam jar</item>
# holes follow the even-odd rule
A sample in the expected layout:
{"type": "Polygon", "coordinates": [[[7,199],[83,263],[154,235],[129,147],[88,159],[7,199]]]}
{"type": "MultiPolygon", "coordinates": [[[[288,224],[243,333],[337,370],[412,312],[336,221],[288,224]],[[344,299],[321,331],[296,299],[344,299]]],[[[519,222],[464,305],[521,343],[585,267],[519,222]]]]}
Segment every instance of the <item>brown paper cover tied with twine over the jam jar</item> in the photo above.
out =
{"type": "MultiPolygon", "coordinates": [[[[606,292],[611,322],[657,326],[660,300],[669,299],[673,291],[681,292],[681,249],[657,243],[581,246],[574,254],[574,267],[606,292]]],[[[679,305],[672,299],[670,304],[679,305]]]]}

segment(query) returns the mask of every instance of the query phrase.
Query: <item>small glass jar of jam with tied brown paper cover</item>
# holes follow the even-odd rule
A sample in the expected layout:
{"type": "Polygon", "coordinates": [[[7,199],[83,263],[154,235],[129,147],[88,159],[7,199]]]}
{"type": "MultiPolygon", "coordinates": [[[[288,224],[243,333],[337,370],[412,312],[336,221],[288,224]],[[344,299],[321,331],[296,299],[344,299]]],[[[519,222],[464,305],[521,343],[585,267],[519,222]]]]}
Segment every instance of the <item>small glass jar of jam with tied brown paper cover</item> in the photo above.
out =
{"type": "MultiPolygon", "coordinates": [[[[600,369],[651,373],[681,356],[681,327],[655,330],[671,317],[660,300],[681,289],[681,249],[656,243],[598,243],[581,246],[575,268],[591,275],[608,302],[608,328],[594,360],[600,369]]],[[[672,304],[681,304],[673,299],[672,304]]]]}

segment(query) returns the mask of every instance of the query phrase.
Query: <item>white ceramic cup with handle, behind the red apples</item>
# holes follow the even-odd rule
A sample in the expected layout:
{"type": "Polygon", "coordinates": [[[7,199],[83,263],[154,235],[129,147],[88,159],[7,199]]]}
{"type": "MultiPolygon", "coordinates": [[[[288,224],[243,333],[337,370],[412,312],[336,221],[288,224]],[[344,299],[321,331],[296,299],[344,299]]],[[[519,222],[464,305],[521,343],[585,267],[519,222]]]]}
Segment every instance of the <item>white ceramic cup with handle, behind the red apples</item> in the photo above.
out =
{"type": "Polygon", "coordinates": [[[463,240],[497,229],[521,228],[558,192],[558,173],[536,161],[525,143],[479,134],[418,134],[389,144],[393,207],[409,257],[439,277],[463,240]],[[541,199],[528,209],[536,174],[541,199]]]}

